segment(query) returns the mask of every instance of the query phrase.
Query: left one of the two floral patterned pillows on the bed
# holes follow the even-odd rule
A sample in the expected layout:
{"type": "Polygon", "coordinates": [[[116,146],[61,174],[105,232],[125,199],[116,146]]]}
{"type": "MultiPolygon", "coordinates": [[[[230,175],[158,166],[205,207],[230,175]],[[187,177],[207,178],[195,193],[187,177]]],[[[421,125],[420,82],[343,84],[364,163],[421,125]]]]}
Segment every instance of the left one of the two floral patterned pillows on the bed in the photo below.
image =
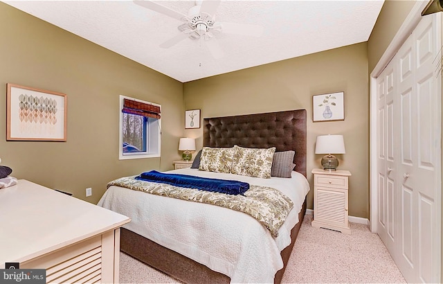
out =
{"type": "Polygon", "coordinates": [[[233,166],[234,148],[210,148],[201,150],[199,170],[230,173],[233,166]]]}

